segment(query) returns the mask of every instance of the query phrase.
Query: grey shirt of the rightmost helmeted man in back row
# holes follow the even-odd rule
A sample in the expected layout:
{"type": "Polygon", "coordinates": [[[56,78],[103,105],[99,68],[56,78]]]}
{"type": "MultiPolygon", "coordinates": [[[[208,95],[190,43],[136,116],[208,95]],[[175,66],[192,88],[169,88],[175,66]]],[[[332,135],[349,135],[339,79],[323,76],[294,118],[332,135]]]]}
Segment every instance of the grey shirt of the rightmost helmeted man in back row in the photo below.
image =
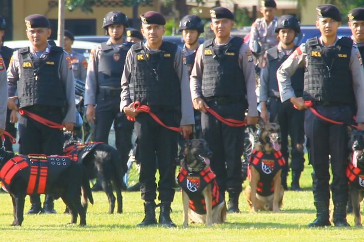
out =
{"type": "MultiPolygon", "coordinates": [[[[282,56],[290,55],[294,49],[283,49],[281,46],[281,42],[277,45],[278,49],[278,58],[282,56]]],[[[267,53],[265,51],[264,60],[263,60],[263,68],[260,71],[260,101],[267,101],[269,97],[269,60],[267,57],[267,53]]]]}

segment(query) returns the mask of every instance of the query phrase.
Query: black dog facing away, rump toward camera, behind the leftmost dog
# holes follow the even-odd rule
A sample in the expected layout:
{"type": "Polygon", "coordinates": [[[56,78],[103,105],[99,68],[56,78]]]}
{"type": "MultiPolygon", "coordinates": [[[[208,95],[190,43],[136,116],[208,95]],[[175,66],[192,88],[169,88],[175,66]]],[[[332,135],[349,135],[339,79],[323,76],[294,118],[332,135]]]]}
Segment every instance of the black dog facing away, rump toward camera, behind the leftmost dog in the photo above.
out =
{"type": "Polygon", "coordinates": [[[128,168],[121,165],[119,151],[105,143],[80,144],[70,134],[65,133],[63,153],[73,161],[83,164],[88,180],[97,178],[101,182],[102,190],[109,200],[109,213],[114,213],[115,200],[117,213],[122,213],[122,177],[128,168]],[[116,199],[113,187],[116,191],[116,199]]]}

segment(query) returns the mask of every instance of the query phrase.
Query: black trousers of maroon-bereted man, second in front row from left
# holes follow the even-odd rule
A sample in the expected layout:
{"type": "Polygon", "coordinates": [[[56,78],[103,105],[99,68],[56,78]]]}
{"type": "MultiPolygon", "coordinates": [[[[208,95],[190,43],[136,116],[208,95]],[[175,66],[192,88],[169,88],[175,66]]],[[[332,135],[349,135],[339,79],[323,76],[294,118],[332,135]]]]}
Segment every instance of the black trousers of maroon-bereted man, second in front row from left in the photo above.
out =
{"type": "MultiPolygon", "coordinates": [[[[177,111],[153,111],[167,126],[179,127],[180,114],[177,111]]],[[[158,168],[158,199],[172,202],[174,198],[173,185],[175,174],[172,169],[177,158],[178,132],[169,130],[156,121],[148,113],[139,113],[135,119],[137,134],[135,143],[135,158],[140,162],[139,182],[141,198],[145,201],[156,199],[157,185],[155,173],[158,168]]]]}

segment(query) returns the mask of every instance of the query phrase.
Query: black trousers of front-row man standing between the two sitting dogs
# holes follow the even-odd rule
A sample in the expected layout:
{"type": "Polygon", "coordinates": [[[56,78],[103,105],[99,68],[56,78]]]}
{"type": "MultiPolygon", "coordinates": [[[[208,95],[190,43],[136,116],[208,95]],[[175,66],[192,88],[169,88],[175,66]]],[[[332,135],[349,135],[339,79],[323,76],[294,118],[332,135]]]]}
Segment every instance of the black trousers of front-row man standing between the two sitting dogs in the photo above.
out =
{"type": "MultiPolygon", "coordinates": [[[[207,105],[223,118],[243,121],[247,106],[243,103],[218,104],[214,101],[207,105]]],[[[201,115],[202,133],[213,152],[210,166],[216,175],[220,193],[242,191],[242,163],[244,151],[244,126],[232,127],[218,121],[210,113],[201,115]]]]}

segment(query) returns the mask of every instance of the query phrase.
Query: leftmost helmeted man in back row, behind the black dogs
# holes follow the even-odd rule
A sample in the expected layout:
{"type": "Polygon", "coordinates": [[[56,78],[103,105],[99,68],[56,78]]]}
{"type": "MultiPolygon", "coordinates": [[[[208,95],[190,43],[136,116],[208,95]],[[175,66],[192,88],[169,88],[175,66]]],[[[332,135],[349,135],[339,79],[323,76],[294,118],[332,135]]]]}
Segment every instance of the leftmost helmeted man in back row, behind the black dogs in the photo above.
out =
{"type": "MultiPolygon", "coordinates": [[[[127,170],[126,163],[132,148],[133,130],[133,123],[119,110],[121,74],[126,53],[132,46],[123,36],[127,27],[128,18],[124,13],[112,11],[105,15],[102,28],[110,38],[91,50],[84,100],[87,106],[87,120],[95,123],[95,141],[108,143],[109,132],[114,122],[115,145],[120,152],[124,171],[127,170]]],[[[92,190],[101,190],[101,185],[97,182],[92,190]]]]}

